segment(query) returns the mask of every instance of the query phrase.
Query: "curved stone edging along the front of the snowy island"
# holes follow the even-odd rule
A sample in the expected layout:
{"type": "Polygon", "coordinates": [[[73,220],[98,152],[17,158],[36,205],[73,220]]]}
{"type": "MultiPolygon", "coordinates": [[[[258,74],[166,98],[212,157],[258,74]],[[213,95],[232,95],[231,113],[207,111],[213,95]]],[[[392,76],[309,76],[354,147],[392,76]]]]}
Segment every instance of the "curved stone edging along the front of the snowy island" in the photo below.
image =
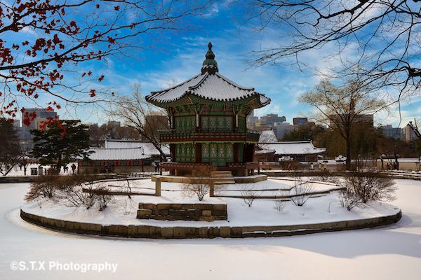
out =
{"type": "Polygon", "coordinates": [[[152,225],[100,225],[94,223],[79,223],[46,218],[28,214],[20,209],[20,217],[36,225],[53,230],[76,232],[86,235],[102,235],[109,237],[153,238],[153,239],[185,239],[185,238],[241,238],[241,237],[281,237],[291,235],[306,235],[317,232],[334,232],[340,230],[357,230],[373,228],[379,225],[397,223],[402,217],[402,211],[391,216],[366,218],[354,221],[333,223],[317,223],[312,225],[279,225],[256,227],[156,227],[152,225]]]}

